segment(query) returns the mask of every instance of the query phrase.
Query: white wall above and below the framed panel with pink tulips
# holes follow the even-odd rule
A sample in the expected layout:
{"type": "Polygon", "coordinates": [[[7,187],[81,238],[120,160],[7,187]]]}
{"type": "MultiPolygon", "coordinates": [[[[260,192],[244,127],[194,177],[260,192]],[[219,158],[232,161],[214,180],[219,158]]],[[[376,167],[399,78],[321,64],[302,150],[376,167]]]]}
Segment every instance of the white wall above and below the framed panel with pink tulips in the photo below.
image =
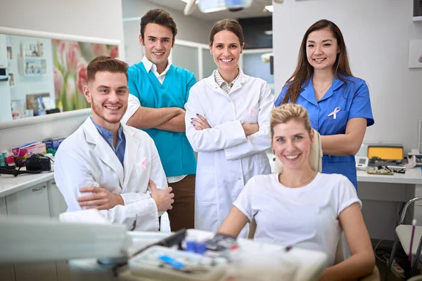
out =
{"type": "MultiPolygon", "coordinates": [[[[2,27],[123,42],[122,0],[0,0],[0,7],[2,27]]],[[[121,51],[124,58],[124,50],[121,51]]],[[[86,113],[32,126],[0,129],[0,150],[5,151],[12,145],[30,141],[42,141],[50,136],[68,136],[88,115],[86,113]]]]}

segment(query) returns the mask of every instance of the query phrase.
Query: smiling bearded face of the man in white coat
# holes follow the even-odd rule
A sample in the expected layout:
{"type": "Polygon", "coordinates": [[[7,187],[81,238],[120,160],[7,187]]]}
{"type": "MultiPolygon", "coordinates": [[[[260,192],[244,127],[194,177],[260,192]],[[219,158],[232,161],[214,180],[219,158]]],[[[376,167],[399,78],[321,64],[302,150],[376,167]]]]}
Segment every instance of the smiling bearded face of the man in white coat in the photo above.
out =
{"type": "Polygon", "coordinates": [[[122,72],[96,72],[95,79],[84,87],[84,96],[91,103],[94,122],[112,131],[110,128],[120,123],[127,109],[126,75],[122,72]]]}

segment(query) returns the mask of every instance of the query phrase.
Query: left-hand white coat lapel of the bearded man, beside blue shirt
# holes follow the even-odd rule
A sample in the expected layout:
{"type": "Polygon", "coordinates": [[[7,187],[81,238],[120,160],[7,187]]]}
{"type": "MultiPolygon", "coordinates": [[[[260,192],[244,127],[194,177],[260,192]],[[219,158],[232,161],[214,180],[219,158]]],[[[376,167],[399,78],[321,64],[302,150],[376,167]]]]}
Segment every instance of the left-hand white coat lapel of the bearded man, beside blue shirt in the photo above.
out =
{"type": "Polygon", "coordinates": [[[113,171],[115,171],[115,173],[119,177],[120,187],[122,188],[124,176],[123,166],[122,164],[120,164],[120,161],[117,158],[117,155],[115,155],[113,149],[110,148],[110,145],[108,145],[106,140],[96,129],[96,126],[92,122],[91,117],[88,117],[87,121],[85,121],[82,125],[82,128],[84,129],[87,143],[92,143],[93,145],[95,145],[95,155],[100,158],[101,161],[103,161],[106,165],[110,166],[113,171]]]}

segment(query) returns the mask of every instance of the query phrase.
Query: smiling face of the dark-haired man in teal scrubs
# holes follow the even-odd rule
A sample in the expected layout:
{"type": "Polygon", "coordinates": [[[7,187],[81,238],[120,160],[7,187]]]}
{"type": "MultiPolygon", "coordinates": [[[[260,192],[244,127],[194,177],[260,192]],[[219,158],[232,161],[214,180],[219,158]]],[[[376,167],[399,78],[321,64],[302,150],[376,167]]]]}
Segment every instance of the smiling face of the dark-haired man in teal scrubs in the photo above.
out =
{"type": "Polygon", "coordinates": [[[157,67],[167,65],[167,59],[174,46],[173,33],[169,27],[148,23],[143,38],[139,35],[139,43],[145,47],[145,56],[151,63],[157,67]]]}

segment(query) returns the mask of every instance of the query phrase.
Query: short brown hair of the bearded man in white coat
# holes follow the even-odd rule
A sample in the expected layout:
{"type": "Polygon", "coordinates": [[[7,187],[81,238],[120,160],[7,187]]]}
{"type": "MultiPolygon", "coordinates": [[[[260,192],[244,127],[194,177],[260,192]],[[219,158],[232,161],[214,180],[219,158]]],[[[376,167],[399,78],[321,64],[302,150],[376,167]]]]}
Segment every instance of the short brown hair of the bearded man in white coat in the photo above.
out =
{"type": "Polygon", "coordinates": [[[106,71],[113,73],[124,73],[127,78],[127,63],[124,63],[122,60],[117,60],[116,58],[108,57],[106,55],[100,55],[99,57],[91,60],[87,67],[87,81],[95,79],[96,72],[106,71]]]}

